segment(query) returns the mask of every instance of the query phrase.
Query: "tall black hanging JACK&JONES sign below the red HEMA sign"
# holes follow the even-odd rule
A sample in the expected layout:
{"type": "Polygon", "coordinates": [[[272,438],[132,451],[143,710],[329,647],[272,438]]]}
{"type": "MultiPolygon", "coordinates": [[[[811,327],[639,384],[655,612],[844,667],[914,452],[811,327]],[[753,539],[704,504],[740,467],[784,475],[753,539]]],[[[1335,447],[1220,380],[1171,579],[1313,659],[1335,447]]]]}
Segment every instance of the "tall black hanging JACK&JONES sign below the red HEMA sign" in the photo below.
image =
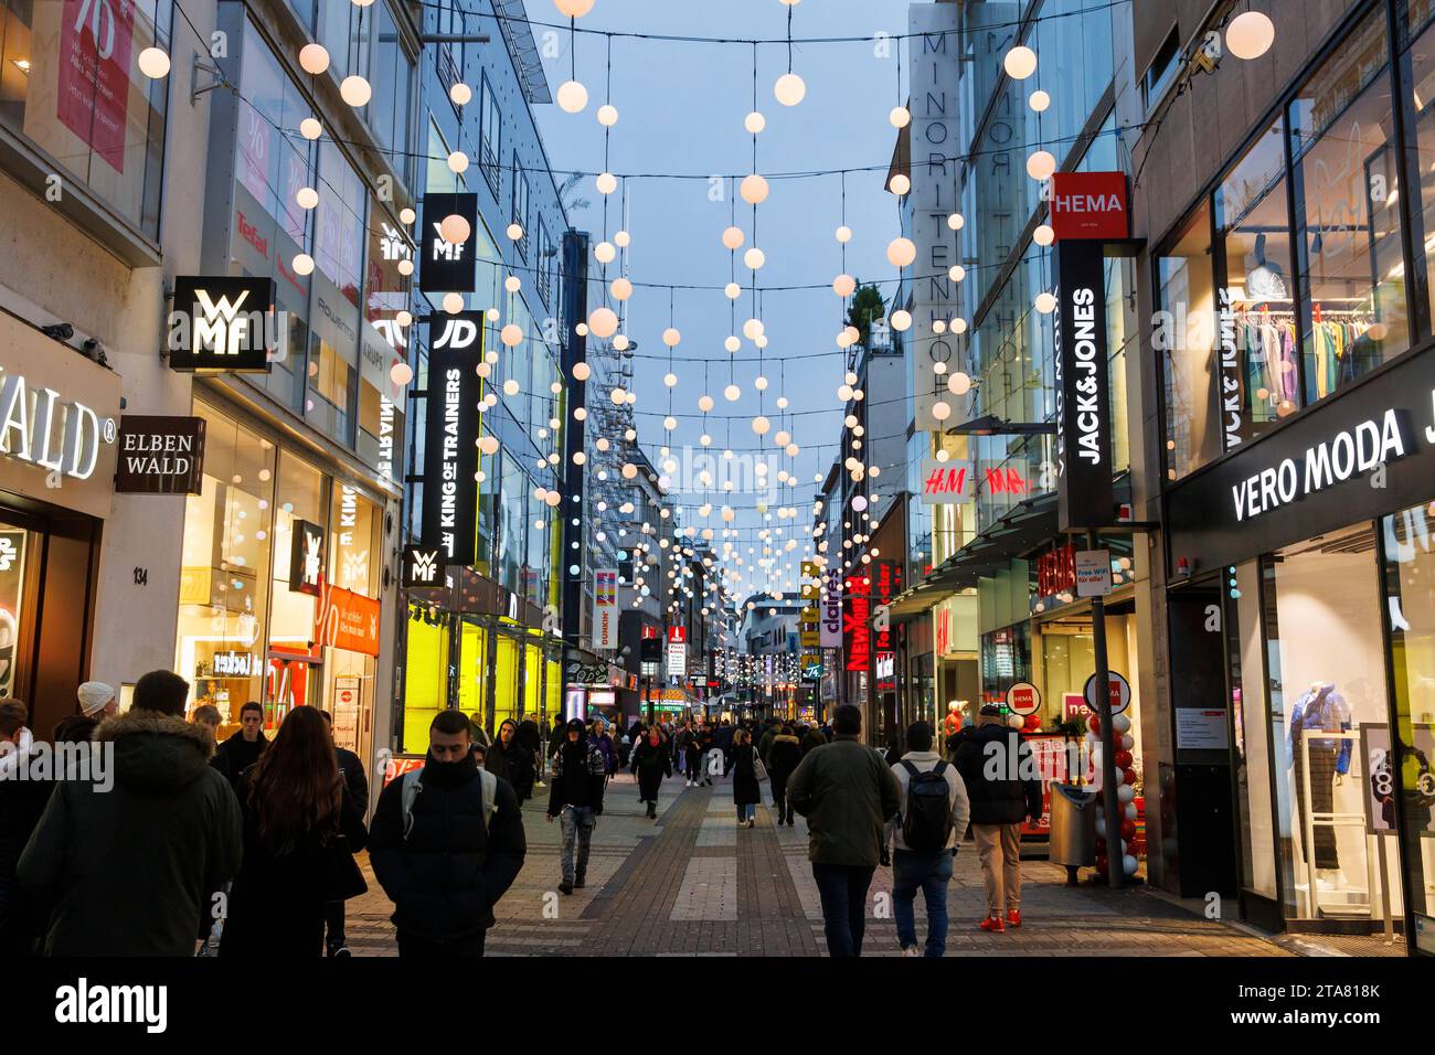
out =
{"type": "Polygon", "coordinates": [[[1056,271],[1056,521],[1062,531],[1115,520],[1106,274],[1098,241],[1063,241],[1056,271]]]}

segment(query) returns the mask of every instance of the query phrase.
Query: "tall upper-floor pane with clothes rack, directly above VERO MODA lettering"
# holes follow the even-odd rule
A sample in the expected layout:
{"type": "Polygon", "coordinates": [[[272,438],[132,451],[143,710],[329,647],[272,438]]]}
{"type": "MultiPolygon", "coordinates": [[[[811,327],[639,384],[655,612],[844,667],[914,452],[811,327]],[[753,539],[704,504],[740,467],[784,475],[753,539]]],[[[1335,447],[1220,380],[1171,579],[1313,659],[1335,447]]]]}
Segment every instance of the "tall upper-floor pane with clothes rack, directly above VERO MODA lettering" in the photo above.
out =
{"type": "Polygon", "coordinates": [[[1409,347],[1385,11],[1290,105],[1306,402],[1409,347]]]}

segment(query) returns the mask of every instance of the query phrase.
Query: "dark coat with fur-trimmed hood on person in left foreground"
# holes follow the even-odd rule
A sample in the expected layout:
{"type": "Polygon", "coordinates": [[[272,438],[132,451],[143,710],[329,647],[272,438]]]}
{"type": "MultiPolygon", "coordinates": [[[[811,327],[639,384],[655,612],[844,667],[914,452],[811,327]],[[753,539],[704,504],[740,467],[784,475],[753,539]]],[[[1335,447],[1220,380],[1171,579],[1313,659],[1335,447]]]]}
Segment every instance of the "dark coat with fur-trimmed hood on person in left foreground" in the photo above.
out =
{"type": "Polygon", "coordinates": [[[194,956],[208,893],[240,870],[240,804],[208,765],[214,738],[155,711],[100,722],[115,787],[66,781],[20,855],[49,910],[49,956],[194,956]]]}

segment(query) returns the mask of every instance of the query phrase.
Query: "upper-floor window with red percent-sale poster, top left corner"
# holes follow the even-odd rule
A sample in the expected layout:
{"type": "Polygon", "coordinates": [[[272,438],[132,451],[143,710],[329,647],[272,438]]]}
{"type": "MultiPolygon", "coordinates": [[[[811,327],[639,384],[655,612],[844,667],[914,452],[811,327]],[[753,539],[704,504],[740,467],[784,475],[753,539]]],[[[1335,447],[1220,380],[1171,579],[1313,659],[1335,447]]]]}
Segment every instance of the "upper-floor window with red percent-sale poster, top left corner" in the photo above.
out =
{"type": "Polygon", "coordinates": [[[128,222],[159,237],[169,82],[139,72],[169,50],[169,0],[0,6],[0,123],[24,136],[128,222]]]}

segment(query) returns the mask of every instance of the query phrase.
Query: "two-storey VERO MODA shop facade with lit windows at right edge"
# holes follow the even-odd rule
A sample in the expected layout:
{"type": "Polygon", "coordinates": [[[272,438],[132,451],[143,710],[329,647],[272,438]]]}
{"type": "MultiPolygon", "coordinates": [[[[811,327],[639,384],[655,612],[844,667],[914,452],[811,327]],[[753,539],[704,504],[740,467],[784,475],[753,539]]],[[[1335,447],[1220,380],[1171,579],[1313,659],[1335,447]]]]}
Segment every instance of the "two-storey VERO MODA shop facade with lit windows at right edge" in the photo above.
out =
{"type": "MultiPolygon", "coordinates": [[[[1180,70],[1151,112],[1218,164],[1135,154],[1152,874],[1362,953],[1435,952],[1432,17],[1350,3],[1319,40],[1180,70]]],[[[1162,32],[1138,20],[1138,46],[1162,32]]]]}

